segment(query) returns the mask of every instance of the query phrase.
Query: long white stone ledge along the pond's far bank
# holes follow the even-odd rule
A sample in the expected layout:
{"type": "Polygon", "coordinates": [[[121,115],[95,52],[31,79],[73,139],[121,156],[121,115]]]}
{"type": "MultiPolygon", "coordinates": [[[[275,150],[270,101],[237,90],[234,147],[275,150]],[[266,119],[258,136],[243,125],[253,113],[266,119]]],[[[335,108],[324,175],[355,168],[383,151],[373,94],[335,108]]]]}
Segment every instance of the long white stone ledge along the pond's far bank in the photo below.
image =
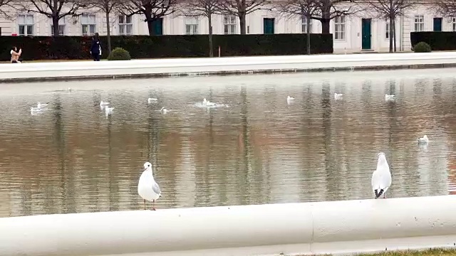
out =
{"type": "Polygon", "coordinates": [[[456,52],[7,63],[0,65],[0,82],[455,66],[456,52]]]}

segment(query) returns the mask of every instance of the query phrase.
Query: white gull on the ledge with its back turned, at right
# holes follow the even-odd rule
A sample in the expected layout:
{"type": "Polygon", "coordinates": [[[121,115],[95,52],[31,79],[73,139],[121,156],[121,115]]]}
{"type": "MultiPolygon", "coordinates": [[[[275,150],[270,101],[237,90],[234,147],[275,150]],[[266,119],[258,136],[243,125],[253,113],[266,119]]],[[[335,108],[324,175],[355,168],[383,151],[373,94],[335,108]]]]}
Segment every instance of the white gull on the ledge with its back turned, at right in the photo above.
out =
{"type": "Polygon", "coordinates": [[[377,169],[372,174],[372,190],[375,193],[375,199],[383,194],[385,198],[386,191],[391,186],[391,173],[385,153],[378,153],[377,169]]]}

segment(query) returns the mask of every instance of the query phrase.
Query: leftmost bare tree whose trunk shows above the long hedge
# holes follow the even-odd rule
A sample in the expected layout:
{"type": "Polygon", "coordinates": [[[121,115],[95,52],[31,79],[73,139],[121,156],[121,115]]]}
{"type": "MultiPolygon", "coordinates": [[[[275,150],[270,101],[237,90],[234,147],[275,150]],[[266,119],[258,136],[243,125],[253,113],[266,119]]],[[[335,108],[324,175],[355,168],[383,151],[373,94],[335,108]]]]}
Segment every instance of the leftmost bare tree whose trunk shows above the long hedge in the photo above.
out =
{"type": "Polygon", "coordinates": [[[58,21],[65,16],[77,16],[76,12],[82,6],[81,1],[68,0],[28,0],[21,1],[21,9],[24,11],[43,14],[52,19],[53,36],[58,35],[58,21]],[[66,11],[62,11],[65,6],[66,11]]]}

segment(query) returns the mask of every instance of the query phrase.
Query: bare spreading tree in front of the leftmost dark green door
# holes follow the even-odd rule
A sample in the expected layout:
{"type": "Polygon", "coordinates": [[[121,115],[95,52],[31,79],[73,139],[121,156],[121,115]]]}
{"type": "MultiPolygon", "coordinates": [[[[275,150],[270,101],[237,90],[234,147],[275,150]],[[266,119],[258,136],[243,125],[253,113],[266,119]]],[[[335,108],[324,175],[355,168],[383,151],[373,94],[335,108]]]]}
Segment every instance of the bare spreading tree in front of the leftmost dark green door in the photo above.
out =
{"type": "Polygon", "coordinates": [[[176,5],[180,0],[124,0],[118,7],[120,14],[133,16],[144,14],[144,21],[147,22],[149,35],[155,35],[154,22],[160,18],[173,14],[176,5]]]}

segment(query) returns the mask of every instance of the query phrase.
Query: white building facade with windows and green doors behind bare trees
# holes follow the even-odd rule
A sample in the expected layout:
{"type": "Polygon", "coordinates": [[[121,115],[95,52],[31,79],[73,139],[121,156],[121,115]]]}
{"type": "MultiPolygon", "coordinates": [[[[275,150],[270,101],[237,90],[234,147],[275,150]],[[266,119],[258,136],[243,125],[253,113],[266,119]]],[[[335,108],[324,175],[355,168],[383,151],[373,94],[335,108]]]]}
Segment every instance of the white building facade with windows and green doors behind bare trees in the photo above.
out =
{"type": "MultiPolygon", "coordinates": [[[[306,20],[268,11],[270,6],[247,15],[247,33],[306,33],[306,20]],[[266,29],[266,26],[268,28],[266,29]]],[[[90,36],[95,32],[107,33],[105,14],[97,10],[81,10],[78,18],[66,16],[59,21],[61,36],[90,36]]],[[[13,18],[0,18],[1,36],[51,36],[51,18],[33,12],[16,12],[13,18]]],[[[164,16],[156,27],[158,34],[185,35],[207,34],[207,18],[204,16],[164,16]]],[[[398,51],[410,51],[410,32],[456,31],[456,18],[444,18],[432,13],[432,6],[421,5],[405,11],[396,23],[398,51]]],[[[239,18],[230,15],[212,17],[214,34],[239,33],[239,18]]],[[[321,33],[321,23],[311,20],[311,33],[321,33]]],[[[147,35],[144,16],[110,15],[110,33],[118,35],[147,35]]],[[[358,53],[364,50],[385,52],[389,49],[389,23],[359,12],[350,16],[336,17],[331,21],[334,53],[358,53]]]]}

